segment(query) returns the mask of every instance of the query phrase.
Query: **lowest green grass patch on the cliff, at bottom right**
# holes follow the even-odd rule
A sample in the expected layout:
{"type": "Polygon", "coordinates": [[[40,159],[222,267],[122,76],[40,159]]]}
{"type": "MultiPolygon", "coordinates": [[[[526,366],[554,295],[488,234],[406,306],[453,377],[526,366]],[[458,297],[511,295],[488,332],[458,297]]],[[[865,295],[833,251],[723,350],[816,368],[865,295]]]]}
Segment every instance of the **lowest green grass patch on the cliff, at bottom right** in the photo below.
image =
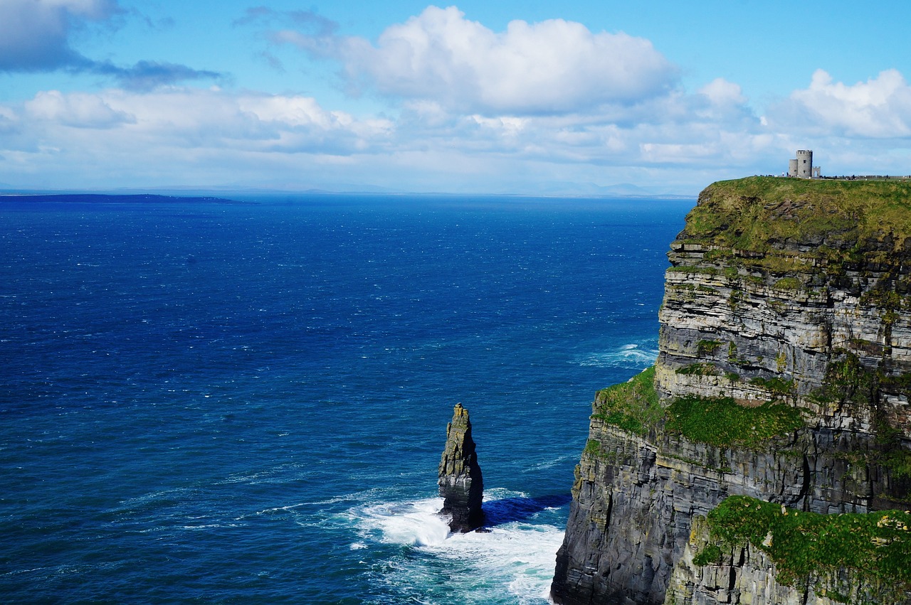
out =
{"type": "Polygon", "coordinates": [[[765,551],[784,584],[811,573],[849,568],[898,590],[911,588],[911,514],[907,511],[783,512],[780,504],[732,496],[712,509],[708,519],[712,539],[729,544],[749,541],[765,551]]]}

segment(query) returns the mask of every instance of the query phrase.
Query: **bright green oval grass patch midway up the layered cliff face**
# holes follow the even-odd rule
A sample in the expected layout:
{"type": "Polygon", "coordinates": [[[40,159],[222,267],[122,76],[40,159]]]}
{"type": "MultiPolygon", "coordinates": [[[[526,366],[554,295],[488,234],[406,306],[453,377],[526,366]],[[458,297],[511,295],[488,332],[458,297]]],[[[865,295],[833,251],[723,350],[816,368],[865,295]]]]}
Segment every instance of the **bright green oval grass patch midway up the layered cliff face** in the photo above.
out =
{"type": "Polygon", "coordinates": [[[759,448],[775,436],[804,426],[797,408],[773,402],[747,408],[729,397],[678,398],[666,413],[668,431],[719,447],[759,448]]]}

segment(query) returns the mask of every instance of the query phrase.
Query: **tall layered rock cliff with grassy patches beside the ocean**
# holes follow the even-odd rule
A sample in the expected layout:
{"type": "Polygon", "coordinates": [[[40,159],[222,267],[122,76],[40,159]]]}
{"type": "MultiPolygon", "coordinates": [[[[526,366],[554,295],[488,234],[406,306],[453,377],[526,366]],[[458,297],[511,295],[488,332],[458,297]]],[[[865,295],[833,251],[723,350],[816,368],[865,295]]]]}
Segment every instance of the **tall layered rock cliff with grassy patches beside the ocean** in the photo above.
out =
{"type": "Polygon", "coordinates": [[[715,183],[668,256],[655,367],[593,404],[553,599],[911,602],[911,186],[715,183]]]}

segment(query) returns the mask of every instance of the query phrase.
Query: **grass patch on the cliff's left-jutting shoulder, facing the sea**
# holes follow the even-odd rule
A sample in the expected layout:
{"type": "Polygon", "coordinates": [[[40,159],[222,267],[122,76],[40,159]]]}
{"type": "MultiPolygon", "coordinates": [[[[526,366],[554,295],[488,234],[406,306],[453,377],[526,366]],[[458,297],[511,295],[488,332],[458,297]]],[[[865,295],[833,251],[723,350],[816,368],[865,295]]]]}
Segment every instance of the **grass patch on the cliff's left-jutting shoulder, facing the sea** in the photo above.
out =
{"type": "Polygon", "coordinates": [[[599,390],[594,408],[593,417],[636,435],[645,435],[664,415],[655,392],[655,368],[640,372],[629,382],[599,390]]]}

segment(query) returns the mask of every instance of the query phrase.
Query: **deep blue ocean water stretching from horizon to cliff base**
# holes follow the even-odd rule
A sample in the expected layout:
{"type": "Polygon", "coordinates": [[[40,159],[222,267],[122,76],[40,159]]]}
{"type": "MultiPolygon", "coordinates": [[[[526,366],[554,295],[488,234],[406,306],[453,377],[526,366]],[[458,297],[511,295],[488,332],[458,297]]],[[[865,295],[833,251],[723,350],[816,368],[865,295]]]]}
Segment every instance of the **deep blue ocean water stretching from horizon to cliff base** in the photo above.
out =
{"type": "Polygon", "coordinates": [[[247,201],[0,202],[0,600],[546,603],[691,201],[247,201]]]}

